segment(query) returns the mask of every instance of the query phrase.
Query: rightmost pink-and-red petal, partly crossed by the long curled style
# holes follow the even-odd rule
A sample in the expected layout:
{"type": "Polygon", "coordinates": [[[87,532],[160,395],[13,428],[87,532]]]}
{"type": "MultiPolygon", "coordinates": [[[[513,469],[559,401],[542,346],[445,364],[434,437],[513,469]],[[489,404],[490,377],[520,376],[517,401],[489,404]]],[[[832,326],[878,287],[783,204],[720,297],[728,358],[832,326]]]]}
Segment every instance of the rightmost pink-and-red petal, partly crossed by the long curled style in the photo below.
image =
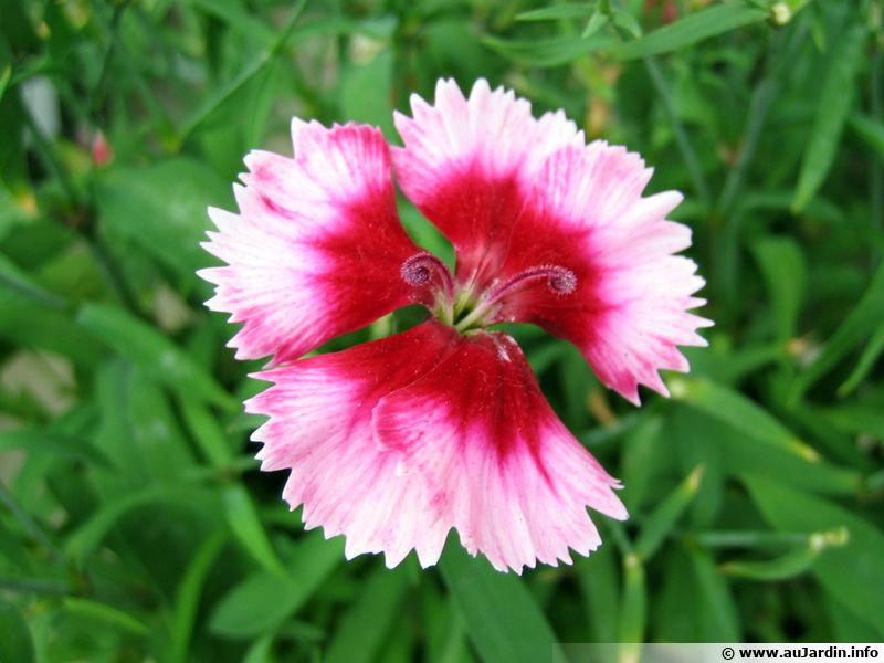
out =
{"type": "Polygon", "coordinates": [[[704,281],[672,255],[691,244],[685,225],[665,219],[675,191],[642,198],[652,170],[638,155],[596,141],[549,157],[513,231],[501,269],[506,278],[536,265],[570,270],[576,290],[557,296],[534,287],[508,297],[497,320],[535,323],[583,352],[599,379],[639,403],[638,386],[667,393],[659,369],[685,371],[676,346],[703,346],[687,313],[704,281]]]}

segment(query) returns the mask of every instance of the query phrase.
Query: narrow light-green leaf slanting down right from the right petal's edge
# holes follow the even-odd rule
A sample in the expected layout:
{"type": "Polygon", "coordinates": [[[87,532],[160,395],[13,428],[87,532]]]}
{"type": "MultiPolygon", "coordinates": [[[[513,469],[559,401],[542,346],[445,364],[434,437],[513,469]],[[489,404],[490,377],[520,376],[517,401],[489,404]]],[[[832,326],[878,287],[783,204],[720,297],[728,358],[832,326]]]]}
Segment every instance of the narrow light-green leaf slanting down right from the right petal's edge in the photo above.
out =
{"type": "Polygon", "coordinates": [[[812,448],[767,410],[737,391],[702,378],[672,380],[670,388],[673,398],[734,427],[750,440],[776,446],[807,461],[819,461],[819,454],[812,448]]]}

